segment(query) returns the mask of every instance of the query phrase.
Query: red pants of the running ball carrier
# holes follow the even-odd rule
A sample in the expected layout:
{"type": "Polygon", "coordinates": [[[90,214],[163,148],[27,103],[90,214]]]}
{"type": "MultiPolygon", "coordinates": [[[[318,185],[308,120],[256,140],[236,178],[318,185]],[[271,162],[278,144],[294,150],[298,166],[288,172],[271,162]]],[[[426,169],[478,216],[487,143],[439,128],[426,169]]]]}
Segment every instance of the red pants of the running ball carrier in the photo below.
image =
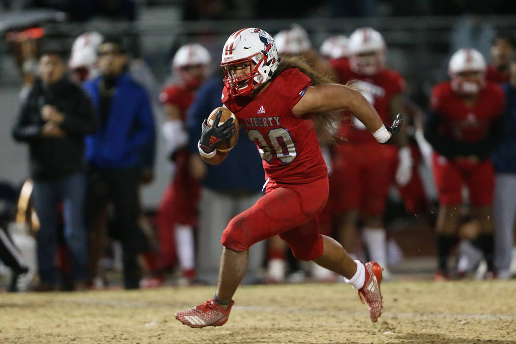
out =
{"type": "Polygon", "coordinates": [[[328,178],[296,185],[270,181],[265,195],[230,221],[222,233],[222,245],[242,252],[279,235],[296,258],[313,260],[324,249],[317,215],[327,200],[328,178]]]}

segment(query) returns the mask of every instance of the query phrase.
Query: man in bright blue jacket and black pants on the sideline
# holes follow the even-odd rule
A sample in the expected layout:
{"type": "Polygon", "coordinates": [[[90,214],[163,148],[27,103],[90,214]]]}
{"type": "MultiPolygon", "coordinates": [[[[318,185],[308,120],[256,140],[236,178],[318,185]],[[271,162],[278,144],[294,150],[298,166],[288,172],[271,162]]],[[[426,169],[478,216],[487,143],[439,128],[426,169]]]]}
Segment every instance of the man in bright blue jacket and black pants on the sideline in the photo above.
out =
{"type": "Polygon", "coordinates": [[[140,280],[137,254],[142,251],[138,188],[142,168],[147,165],[142,157],[148,157],[145,152],[155,140],[154,119],[147,92],[126,73],[128,57],[122,44],[106,40],[98,55],[102,75],[84,84],[99,117],[98,132],[86,138],[90,165],[86,219],[94,228],[106,203],[112,202],[114,220],[124,231],[118,234],[124,286],[135,289],[140,280]]]}

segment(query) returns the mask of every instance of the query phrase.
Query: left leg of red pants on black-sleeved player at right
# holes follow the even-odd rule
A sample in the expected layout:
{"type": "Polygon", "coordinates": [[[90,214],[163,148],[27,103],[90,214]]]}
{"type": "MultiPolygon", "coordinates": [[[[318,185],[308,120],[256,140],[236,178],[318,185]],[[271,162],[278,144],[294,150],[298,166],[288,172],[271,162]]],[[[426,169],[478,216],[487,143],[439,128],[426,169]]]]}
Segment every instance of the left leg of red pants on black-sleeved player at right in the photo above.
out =
{"type": "Polygon", "coordinates": [[[462,172],[445,157],[432,155],[433,178],[439,193],[439,204],[455,205],[462,203],[462,172]]]}

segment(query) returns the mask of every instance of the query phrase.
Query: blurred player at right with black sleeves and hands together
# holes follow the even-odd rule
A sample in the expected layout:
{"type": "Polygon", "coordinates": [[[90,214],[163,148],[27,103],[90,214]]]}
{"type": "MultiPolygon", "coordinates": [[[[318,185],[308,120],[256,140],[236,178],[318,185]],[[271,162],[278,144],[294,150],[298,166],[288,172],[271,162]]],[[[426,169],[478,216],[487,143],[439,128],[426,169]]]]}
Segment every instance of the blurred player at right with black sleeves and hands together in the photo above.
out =
{"type": "Polygon", "coordinates": [[[501,87],[485,81],[486,62],[474,49],[460,49],[450,59],[451,80],[432,91],[425,138],[433,146],[434,179],[439,193],[436,281],[447,279],[448,255],[460,220],[462,185],[469,190],[472,214],[480,221],[474,243],[493,271],[492,203],[494,172],[491,152],[502,130],[505,98],[501,87]]]}

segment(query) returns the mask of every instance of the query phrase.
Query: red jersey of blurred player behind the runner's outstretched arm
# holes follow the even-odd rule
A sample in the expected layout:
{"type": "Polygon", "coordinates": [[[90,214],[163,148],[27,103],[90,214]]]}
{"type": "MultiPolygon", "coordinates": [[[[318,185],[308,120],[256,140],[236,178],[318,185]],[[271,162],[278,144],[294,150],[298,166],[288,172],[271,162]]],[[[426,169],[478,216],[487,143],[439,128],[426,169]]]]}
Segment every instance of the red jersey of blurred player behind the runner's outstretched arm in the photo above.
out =
{"type": "MultiPolygon", "coordinates": [[[[340,83],[356,88],[371,103],[384,123],[390,123],[392,97],[405,90],[405,80],[396,71],[382,69],[375,75],[361,75],[351,70],[349,62],[332,60],[340,83]]],[[[369,130],[359,120],[349,116],[343,121],[342,136],[351,143],[376,142],[369,130]]]]}

